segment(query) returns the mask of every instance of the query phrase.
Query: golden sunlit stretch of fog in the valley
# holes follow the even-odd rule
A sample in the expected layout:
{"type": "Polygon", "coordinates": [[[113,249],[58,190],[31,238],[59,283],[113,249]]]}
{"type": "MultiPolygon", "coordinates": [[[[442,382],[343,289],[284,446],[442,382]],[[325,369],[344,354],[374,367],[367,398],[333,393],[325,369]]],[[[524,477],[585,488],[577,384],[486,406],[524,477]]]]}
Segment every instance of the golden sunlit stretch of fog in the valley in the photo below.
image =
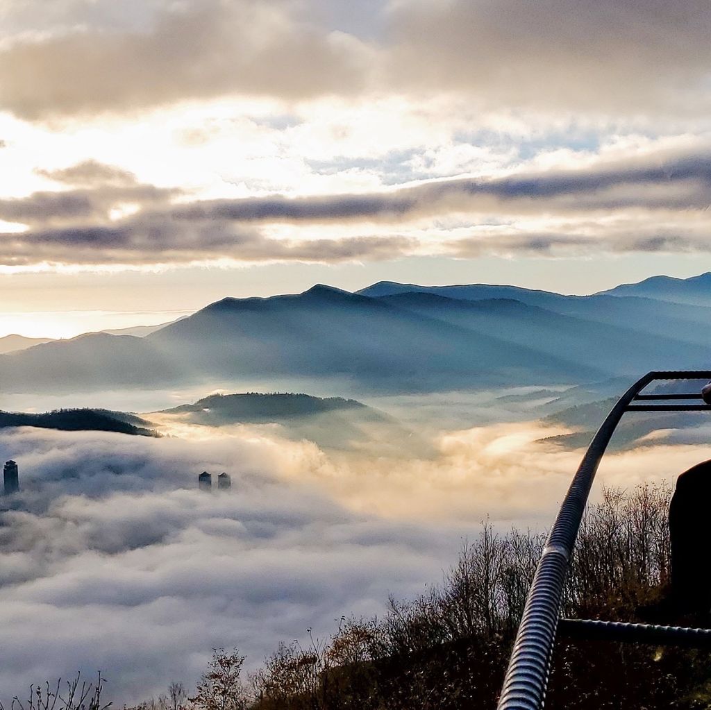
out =
{"type": "MultiPolygon", "coordinates": [[[[547,441],[570,429],[542,421],[491,424],[437,436],[430,457],[338,453],[312,441],[284,438],[277,424],[213,429],[174,415],[150,415],[161,431],[201,443],[249,441],[269,451],[275,473],[301,485],[313,485],[354,512],[411,522],[460,522],[471,525],[489,516],[498,526],[550,525],[579,466],[584,449],[568,450],[547,441]]],[[[711,458],[697,444],[659,441],[631,451],[609,451],[591,495],[602,487],[634,488],[665,481],[711,458]]]]}

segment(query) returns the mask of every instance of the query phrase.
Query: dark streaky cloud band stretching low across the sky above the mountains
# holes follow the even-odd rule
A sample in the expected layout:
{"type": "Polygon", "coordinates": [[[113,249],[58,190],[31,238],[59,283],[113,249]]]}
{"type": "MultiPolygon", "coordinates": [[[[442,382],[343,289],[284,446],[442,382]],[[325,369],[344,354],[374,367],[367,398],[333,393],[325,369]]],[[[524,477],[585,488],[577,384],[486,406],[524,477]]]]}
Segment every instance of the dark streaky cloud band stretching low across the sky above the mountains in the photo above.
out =
{"type": "Polygon", "coordinates": [[[711,251],[705,141],[575,169],[291,198],[189,200],[92,161],[46,176],[65,189],[0,200],[0,220],[23,225],[0,234],[0,266],[711,251]]]}

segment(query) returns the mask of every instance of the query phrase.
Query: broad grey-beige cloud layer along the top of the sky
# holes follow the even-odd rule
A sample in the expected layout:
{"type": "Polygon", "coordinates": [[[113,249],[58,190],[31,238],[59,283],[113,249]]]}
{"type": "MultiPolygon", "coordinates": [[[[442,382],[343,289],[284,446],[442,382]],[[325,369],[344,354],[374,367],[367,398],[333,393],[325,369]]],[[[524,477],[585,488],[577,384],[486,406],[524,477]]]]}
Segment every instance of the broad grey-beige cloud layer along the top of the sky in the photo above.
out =
{"type": "Polygon", "coordinates": [[[0,50],[0,105],[31,119],[225,95],[418,90],[548,110],[707,104],[702,0],[382,1],[351,9],[362,16],[351,27],[324,22],[319,0],[53,6],[2,8],[11,41],[0,50]]]}

